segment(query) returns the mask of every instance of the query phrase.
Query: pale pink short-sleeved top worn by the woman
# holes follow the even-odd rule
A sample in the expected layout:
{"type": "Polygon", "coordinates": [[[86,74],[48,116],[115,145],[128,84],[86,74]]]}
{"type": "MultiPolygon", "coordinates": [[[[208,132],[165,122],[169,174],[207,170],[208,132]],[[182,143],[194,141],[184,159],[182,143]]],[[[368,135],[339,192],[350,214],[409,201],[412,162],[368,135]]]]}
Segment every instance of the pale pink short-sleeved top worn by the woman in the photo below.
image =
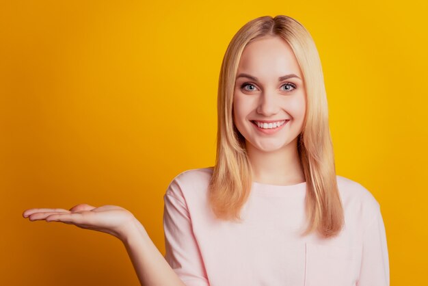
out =
{"type": "Polygon", "coordinates": [[[345,210],[338,237],[299,237],[306,183],[253,182],[243,223],[216,220],[212,168],[178,174],[164,195],[165,259],[187,286],[386,286],[389,261],[379,203],[337,176],[345,210]]]}

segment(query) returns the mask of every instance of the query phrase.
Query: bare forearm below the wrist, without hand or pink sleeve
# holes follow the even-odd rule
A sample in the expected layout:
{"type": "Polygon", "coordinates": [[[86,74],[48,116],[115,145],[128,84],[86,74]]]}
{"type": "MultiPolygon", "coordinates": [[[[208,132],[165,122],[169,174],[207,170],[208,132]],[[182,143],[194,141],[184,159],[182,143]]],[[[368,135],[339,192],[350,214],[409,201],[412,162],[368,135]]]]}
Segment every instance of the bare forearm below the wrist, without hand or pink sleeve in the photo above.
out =
{"type": "Polygon", "coordinates": [[[144,226],[135,219],[122,242],[133,263],[139,283],[145,286],[185,286],[165,261],[148,236],[144,226]]]}

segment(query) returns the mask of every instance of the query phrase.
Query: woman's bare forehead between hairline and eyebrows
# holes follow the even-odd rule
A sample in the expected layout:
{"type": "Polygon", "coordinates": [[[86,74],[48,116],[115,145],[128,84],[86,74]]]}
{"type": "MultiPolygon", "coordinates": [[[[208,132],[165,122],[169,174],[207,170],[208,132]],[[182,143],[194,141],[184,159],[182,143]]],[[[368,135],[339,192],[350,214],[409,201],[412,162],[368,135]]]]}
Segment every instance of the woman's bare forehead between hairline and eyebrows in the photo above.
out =
{"type": "Polygon", "coordinates": [[[294,73],[302,78],[293,49],[280,36],[264,36],[250,42],[239,60],[238,73],[270,79],[294,73]]]}

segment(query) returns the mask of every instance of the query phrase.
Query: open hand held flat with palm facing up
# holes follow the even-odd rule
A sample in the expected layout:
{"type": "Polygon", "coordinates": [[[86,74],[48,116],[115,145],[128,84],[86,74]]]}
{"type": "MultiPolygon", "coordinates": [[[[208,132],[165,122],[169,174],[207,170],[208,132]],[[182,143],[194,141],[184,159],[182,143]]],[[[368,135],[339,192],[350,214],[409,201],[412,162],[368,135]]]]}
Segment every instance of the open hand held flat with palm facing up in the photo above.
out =
{"type": "Polygon", "coordinates": [[[46,220],[46,222],[64,222],[75,224],[81,229],[101,231],[123,239],[126,231],[135,226],[133,214],[116,205],[93,207],[81,204],[67,209],[27,209],[23,212],[24,218],[29,220],[46,220]]]}

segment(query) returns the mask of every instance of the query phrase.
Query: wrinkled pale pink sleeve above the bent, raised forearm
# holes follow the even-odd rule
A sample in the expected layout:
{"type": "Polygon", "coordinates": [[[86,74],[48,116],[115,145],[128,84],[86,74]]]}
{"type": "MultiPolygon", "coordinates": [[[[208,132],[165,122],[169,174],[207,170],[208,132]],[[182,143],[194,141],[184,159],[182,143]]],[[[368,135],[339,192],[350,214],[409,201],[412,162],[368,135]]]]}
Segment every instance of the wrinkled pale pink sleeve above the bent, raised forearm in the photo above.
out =
{"type": "Polygon", "coordinates": [[[176,180],[166,194],[163,209],[165,260],[187,286],[209,286],[191,218],[176,180]]]}

